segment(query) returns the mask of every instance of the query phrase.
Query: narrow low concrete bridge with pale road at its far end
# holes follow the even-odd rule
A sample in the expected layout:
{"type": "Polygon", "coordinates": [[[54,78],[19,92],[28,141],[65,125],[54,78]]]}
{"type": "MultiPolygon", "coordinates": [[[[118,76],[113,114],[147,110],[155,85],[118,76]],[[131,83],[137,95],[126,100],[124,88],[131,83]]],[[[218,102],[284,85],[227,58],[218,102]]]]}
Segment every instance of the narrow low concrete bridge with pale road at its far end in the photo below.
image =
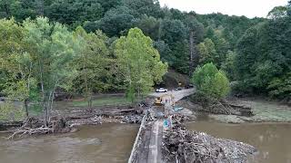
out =
{"type": "MultiPolygon", "coordinates": [[[[169,91],[166,93],[152,93],[152,96],[160,97],[164,94],[171,94],[176,102],[194,92],[195,89],[188,89],[182,91],[169,91]]],[[[161,115],[161,111],[163,111],[164,114],[166,110],[173,110],[173,106],[166,103],[163,108],[156,109],[156,107],[151,107],[149,110],[146,110],[135,138],[135,144],[130,158],[128,159],[128,163],[163,163],[161,147],[164,130],[163,123],[165,119],[159,115],[161,115]]]]}

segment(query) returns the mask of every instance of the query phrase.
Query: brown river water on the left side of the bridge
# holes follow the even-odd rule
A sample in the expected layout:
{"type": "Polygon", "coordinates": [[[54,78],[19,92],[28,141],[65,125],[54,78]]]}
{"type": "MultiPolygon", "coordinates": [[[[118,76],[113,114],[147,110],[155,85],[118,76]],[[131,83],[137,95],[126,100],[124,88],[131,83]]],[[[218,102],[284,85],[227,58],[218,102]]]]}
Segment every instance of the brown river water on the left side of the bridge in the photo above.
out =
{"type": "Polygon", "coordinates": [[[0,163],[124,163],[137,130],[138,125],[103,124],[62,135],[0,138],[0,163]]]}

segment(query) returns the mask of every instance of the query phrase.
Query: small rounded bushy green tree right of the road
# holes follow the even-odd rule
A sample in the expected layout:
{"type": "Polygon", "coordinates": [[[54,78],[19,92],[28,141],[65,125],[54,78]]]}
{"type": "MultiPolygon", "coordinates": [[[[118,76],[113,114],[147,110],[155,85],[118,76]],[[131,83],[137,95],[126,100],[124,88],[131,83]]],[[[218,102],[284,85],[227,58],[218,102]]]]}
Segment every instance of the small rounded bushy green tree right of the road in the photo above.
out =
{"type": "Polygon", "coordinates": [[[194,72],[192,82],[196,84],[200,93],[210,99],[222,100],[230,91],[225,72],[218,71],[213,63],[198,67],[194,72]]]}

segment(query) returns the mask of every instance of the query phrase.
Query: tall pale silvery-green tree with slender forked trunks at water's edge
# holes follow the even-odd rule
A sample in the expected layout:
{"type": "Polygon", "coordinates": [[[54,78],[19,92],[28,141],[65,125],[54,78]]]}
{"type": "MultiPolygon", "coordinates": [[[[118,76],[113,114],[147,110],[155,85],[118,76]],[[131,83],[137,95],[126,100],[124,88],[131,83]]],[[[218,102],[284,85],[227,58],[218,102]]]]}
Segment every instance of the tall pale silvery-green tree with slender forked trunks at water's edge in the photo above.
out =
{"type": "Polygon", "coordinates": [[[25,20],[25,40],[32,47],[34,77],[40,86],[45,127],[53,108],[56,88],[69,89],[75,76],[73,59],[80,45],[64,25],[50,24],[48,18],[25,20]]]}

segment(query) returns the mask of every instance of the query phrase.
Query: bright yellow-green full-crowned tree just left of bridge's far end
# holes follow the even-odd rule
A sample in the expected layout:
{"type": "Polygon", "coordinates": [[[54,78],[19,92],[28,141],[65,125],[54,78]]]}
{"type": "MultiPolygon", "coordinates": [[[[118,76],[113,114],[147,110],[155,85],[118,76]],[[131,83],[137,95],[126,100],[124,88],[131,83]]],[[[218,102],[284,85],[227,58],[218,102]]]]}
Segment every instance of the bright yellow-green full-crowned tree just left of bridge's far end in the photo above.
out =
{"type": "Polygon", "coordinates": [[[130,29],[126,37],[116,40],[115,54],[120,73],[125,77],[127,92],[132,97],[140,99],[152,90],[155,82],[161,82],[166,73],[167,64],[160,61],[153,41],[138,28],[130,29]]]}

